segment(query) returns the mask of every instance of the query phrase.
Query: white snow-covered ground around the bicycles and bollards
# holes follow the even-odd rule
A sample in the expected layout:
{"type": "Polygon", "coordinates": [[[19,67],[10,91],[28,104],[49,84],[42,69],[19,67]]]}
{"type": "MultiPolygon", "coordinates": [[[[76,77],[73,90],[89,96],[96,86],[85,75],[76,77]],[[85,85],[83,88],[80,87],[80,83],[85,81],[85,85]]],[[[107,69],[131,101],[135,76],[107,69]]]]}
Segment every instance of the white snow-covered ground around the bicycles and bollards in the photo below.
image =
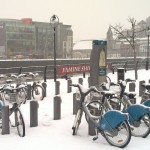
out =
{"type": "MultiPolygon", "coordinates": [[[[139,70],[138,81],[136,82],[136,93],[138,101],[139,81],[150,79],[150,71],[139,70]]],[[[117,75],[108,74],[112,81],[117,80],[117,75]]],[[[73,77],[73,83],[78,82],[79,77],[73,77]]],[[[128,71],[125,78],[134,79],[134,72],[128,71]]],[[[67,93],[67,81],[60,80],[60,96],[61,103],[61,119],[53,119],[53,99],[54,99],[54,81],[47,81],[47,97],[39,102],[38,109],[38,126],[30,127],[30,101],[21,106],[21,110],[25,119],[26,136],[21,138],[17,134],[16,128],[10,129],[10,134],[0,134],[0,149],[3,150],[117,150],[118,148],[110,146],[106,140],[99,135],[99,139],[93,141],[93,136],[88,135],[88,125],[85,118],[82,118],[81,125],[76,136],[72,135],[72,125],[74,121],[73,115],[73,92],[67,93]]],[[[87,78],[83,79],[83,85],[88,86],[87,78]]],[[[149,150],[150,149],[150,135],[147,138],[132,137],[131,142],[126,150],[149,150]]]]}

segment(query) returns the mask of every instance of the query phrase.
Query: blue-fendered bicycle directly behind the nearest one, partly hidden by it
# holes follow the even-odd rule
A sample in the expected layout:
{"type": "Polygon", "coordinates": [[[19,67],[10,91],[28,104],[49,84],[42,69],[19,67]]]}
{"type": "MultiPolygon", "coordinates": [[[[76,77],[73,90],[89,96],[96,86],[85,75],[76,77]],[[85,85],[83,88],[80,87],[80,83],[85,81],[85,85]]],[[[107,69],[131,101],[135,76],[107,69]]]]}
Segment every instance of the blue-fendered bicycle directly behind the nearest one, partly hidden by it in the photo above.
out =
{"type": "MultiPolygon", "coordinates": [[[[118,84],[111,85],[120,86],[120,95],[113,96],[110,104],[116,103],[118,110],[129,114],[129,123],[131,133],[136,137],[147,137],[150,133],[150,108],[143,104],[136,104],[135,93],[125,92],[127,82],[135,82],[131,79],[125,81],[119,80],[118,84]]],[[[113,105],[112,105],[113,106],[113,105]]]]}

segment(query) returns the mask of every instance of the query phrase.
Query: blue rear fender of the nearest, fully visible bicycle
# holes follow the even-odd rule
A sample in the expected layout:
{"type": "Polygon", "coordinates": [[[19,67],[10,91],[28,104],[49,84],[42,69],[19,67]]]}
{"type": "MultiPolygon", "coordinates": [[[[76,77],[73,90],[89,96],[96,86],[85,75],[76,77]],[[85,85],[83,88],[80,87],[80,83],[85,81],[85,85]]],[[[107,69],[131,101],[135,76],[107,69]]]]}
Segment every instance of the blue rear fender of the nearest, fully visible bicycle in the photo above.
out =
{"type": "Polygon", "coordinates": [[[128,119],[127,113],[122,113],[117,110],[110,110],[102,116],[98,128],[101,130],[111,131],[120,125],[123,121],[128,119]]]}

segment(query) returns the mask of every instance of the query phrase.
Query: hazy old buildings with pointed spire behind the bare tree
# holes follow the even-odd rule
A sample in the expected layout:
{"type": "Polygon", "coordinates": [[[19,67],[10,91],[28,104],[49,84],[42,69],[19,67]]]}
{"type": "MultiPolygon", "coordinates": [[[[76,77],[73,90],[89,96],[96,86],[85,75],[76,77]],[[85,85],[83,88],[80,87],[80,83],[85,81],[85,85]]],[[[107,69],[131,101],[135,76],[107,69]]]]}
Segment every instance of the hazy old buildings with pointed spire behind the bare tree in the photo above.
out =
{"type": "MultiPolygon", "coordinates": [[[[150,29],[150,17],[148,17],[145,21],[142,20],[138,22],[135,26],[135,50],[137,57],[147,57],[148,45],[150,44],[148,42],[148,38],[150,36],[150,30],[148,31],[148,27],[150,29]]],[[[129,35],[132,34],[130,29],[127,31],[129,35]]],[[[127,36],[127,31],[123,31],[125,36],[127,36]]],[[[119,34],[118,37],[113,38],[111,28],[109,28],[107,32],[107,45],[108,58],[134,57],[133,48],[129,42],[127,42],[126,39],[120,38],[119,34]]]]}

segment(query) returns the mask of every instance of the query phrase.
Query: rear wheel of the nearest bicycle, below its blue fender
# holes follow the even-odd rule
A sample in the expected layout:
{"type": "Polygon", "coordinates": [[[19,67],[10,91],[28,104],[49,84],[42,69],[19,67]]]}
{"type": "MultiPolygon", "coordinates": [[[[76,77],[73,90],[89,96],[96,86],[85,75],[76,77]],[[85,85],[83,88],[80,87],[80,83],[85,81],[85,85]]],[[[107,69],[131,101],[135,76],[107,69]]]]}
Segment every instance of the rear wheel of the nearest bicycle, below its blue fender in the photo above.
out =
{"type": "Polygon", "coordinates": [[[106,141],[116,147],[124,148],[131,140],[131,129],[127,121],[122,122],[112,131],[103,131],[106,141]]]}

